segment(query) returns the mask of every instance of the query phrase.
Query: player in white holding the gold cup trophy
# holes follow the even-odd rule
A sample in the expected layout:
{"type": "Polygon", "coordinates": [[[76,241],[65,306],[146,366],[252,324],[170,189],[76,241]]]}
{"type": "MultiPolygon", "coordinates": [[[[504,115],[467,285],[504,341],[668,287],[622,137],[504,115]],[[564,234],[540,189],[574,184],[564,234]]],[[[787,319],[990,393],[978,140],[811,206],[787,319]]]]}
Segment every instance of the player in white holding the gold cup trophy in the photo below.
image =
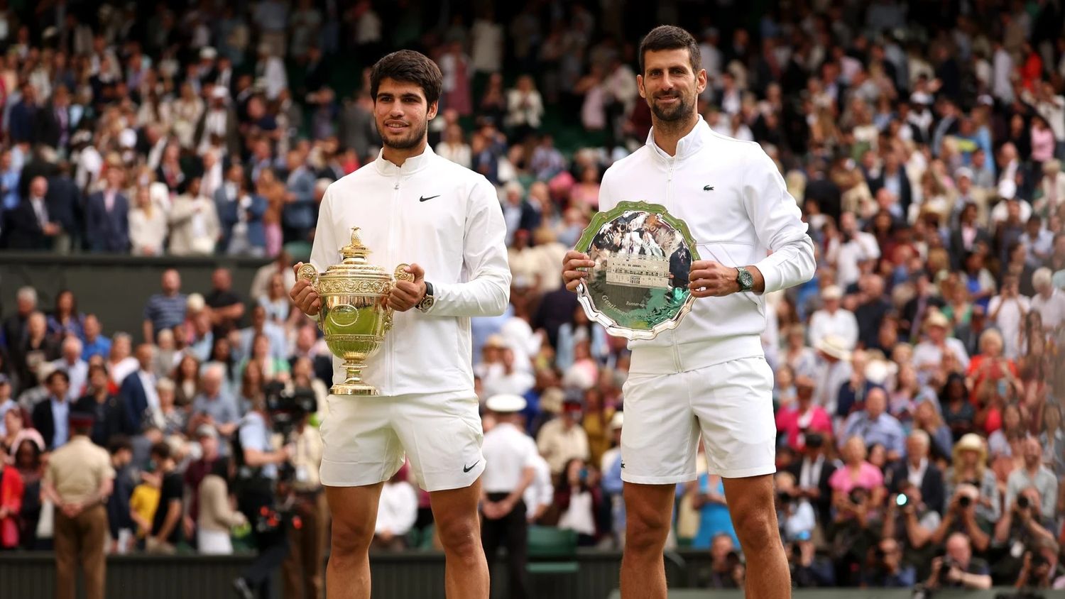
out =
{"type": "MultiPolygon", "coordinates": [[[[311,263],[320,272],[340,262],[351,227],[360,227],[371,262],[387,269],[411,263],[415,277],[393,288],[393,329],[363,372],[380,396],[330,396],[322,425],[322,484],[333,518],[330,599],[370,597],[378,498],[405,453],[431,498],[447,597],[489,596],[470,317],[503,314],[510,269],[495,188],[426,143],[441,81],[436,63],[419,52],[378,61],[370,85],[383,149],[373,164],[331,184],[318,214],[311,263]]],[[[306,314],[317,314],[321,300],[305,281],[291,296],[306,314]]],[[[333,379],[344,380],[337,357],[333,379]]]]}

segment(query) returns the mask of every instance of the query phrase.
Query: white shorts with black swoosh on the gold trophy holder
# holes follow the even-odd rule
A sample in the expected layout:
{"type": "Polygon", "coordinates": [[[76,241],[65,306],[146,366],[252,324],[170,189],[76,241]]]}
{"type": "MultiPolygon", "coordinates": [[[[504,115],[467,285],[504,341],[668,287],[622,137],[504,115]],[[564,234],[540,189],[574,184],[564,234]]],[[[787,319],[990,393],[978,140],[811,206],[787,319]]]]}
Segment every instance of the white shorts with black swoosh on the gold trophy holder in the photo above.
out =
{"type": "Polygon", "coordinates": [[[322,422],[322,484],[362,486],[391,479],[410,457],[425,490],[463,488],[485,470],[476,396],[329,396],[322,422]]]}

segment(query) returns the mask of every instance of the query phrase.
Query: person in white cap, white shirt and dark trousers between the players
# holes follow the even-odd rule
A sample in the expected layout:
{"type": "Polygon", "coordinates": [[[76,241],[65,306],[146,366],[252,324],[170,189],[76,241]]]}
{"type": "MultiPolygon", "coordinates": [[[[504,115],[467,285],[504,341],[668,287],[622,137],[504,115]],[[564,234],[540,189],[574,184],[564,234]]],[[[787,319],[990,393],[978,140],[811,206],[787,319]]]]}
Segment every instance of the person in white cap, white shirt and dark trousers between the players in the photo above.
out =
{"type": "Polygon", "coordinates": [[[539,453],[532,437],[525,434],[519,425],[525,405],[525,398],[518,395],[493,395],[488,398],[485,406],[495,415],[496,425],[485,433],[481,447],[485,454],[481,544],[489,570],[501,543],[506,546],[510,581],[507,597],[514,599],[531,597],[525,576],[528,520],[523,496],[536,476],[539,453]]]}

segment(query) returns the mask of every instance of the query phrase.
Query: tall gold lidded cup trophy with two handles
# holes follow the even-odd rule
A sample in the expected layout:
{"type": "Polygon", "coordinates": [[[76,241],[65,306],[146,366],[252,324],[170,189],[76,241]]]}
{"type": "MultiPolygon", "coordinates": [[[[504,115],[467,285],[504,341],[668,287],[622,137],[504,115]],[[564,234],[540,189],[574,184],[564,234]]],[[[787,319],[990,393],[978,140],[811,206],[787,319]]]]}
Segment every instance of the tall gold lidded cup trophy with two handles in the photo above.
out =
{"type": "Polygon", "coordinates": [[[392,328],[389,293],[395,281],[414,281],[408,264],[396,266],[389,274],[380,266],[366,262],[370,248],[362,245],[359,228],[351,228],[351,243],[340,249],[343,262],[320,273],[314,265],[299,267],[299,277],[311,283],[322,301],[318,327],[333,355],[344,360],[347,377],[329,388],[333,395],[377,395],[373,385],[362,381],[366,359],[384,343],[392,328]]]}

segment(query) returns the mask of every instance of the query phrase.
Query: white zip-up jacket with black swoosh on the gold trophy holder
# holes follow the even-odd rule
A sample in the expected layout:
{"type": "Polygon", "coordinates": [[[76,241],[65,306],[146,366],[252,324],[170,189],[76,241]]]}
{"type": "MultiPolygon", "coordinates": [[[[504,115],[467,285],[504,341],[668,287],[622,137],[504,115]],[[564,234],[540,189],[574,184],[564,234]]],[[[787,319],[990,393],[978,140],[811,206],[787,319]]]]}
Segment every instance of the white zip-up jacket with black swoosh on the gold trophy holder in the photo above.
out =
{"type": "MultiPolygon", "coordinates": [[[[506,224],[495,188],[465,167],[425,152],[397,167],[380,155],[326,189],[311,264],[325,272],[360,227],[367,256],[387,272],[417,264],[432,283],[427,312],[397,312],[363,379],[382,396],[474,393],[471,316],[503,314],[510,299],[506,224]]],[[[333,380],[344,380],[333,356],[333,380]]]]}

